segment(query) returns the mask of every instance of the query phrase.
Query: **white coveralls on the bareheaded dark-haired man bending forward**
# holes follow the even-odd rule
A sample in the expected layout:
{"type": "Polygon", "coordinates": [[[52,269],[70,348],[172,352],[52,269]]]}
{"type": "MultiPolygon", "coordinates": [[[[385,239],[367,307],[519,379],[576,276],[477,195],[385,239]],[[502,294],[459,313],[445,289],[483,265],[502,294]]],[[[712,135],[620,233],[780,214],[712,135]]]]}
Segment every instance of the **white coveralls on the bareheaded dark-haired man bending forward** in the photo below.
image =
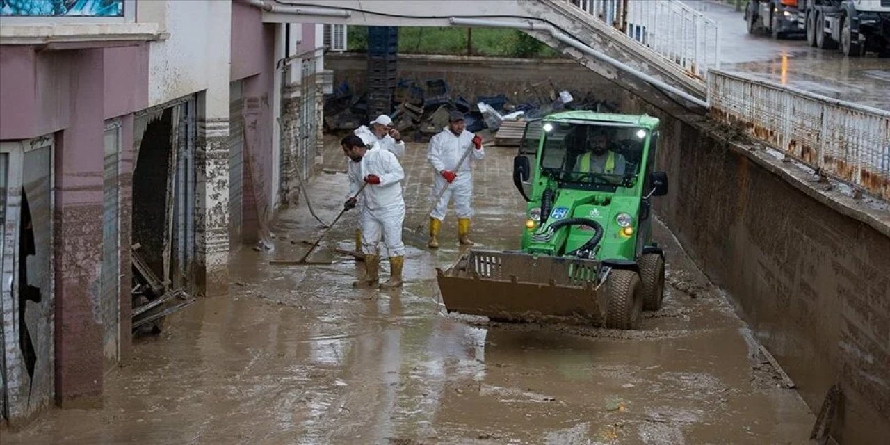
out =
{"type": "Polygon", "coordinates": [[[390,256],[405,255],[401,241],[401,226],[405,221],[405,200],[401,182],[405,172],[399,159],[389,150],[367,150],[360,162],[350,159],[349,197],[355,195],[368,174],[380,177],[379,184],[368,184],[361,192],[360,208],[361,250],[365,255],[378,255],[377,245],[383,239],[390,256]]]}

